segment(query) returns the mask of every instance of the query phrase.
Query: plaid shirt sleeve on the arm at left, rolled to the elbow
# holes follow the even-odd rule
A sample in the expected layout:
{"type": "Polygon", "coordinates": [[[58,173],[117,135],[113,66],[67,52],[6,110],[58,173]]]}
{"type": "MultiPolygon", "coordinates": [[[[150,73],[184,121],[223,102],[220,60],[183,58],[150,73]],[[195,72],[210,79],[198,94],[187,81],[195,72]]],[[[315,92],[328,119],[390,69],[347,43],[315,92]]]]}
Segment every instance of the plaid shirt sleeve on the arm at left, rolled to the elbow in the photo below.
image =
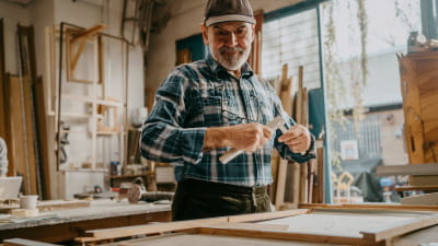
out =
{"type": "Polygon", "coordinates": [[[141,131],[145,159],[174,164],[196,164],[203,159],[206,128],[184,128],[189,94],[189,81],[177,69],[158,89],[155,105],[141,131]]]}

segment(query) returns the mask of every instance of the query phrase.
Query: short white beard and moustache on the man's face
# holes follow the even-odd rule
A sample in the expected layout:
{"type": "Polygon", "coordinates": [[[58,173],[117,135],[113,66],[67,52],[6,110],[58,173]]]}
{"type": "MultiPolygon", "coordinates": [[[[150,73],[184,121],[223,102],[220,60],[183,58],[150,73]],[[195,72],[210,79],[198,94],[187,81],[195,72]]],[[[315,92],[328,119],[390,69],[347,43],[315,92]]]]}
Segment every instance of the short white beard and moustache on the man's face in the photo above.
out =
{"type": "Polygon", "coordinates": [[[228,48],[222,47],[219,50],[212,50],[211,46],[208,47],[211,54],[211,57],[223,68],[229,71],[237,71],[246,62],[247,57],[250,56],[251,49],[243,48],[228,48]],[[226,50],[238,51],[237,56],[227,56],[226,50]]]}

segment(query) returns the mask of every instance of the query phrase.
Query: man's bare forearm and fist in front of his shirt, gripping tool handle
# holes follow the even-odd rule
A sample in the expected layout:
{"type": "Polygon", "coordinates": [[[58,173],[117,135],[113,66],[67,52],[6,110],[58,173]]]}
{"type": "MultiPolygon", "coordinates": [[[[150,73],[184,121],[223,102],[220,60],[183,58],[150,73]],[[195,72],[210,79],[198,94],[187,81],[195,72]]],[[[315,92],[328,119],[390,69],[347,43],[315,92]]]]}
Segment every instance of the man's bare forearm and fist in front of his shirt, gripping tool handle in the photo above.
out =
{"type": "Polygon", "coordinates": [[[241,124],[231,127],[208,128],[204,150],[231,147],[254,152],[273,137],[273,130],[261,124],[241,124]]]}

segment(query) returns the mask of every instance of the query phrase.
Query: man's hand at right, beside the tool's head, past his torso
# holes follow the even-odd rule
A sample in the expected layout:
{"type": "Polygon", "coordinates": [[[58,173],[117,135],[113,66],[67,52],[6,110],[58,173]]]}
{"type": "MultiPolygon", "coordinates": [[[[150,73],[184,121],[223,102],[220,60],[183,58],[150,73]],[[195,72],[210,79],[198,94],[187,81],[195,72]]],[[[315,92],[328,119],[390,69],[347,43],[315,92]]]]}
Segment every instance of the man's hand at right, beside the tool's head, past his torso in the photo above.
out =
{"type": "Polygon", "coordinates": [[[293,153],[307,152],[310,148],[311,137],[309,130],[302,125],[290,127],[289,130],[278,138],[278,142],[284,142],[293,153]]]}

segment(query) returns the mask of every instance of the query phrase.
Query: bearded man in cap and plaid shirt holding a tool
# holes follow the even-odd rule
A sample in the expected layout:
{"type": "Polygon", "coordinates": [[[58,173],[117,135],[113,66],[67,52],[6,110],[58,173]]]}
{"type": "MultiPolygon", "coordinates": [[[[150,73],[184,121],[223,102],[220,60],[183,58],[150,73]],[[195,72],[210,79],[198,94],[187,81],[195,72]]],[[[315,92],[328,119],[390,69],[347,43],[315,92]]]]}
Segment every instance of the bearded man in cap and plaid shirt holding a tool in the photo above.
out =
{"type": "Polygon", "coordinates": [[[314,157],[313,136],[246,62],[254,26],[247,0],[208,0],[201,24],[208,57],[175,68],[157,91],[141,153],[175,164],[174,221],[270,211],[273,147],[299,163],[314,157]],[[279,115],[292,126],[283,136],[264,126],[279,115]],[[245,152],[221,163],[232,148],[245,152]]]}

